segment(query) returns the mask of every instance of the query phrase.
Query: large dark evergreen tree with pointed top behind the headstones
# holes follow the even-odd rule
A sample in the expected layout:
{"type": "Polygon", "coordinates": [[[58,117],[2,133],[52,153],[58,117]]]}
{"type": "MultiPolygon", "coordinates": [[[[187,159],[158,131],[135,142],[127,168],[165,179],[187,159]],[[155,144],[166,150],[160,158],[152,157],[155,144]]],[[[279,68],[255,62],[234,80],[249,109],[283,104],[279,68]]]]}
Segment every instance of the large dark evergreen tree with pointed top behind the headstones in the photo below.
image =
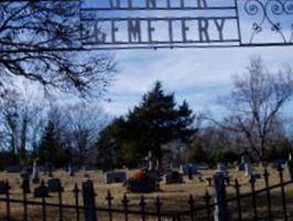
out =
{"type": "MultiPolygon", "coordinates": [[[[119,146],[128,166],[137,166],[149,151],[161,166],[162,146],[175,140],[188,141],[194,133],[193,120],[188,104],[176,105],[174,94],[166,94],[162,83],[156,82],[153,90],[143,95],[141,104],[122,119],[120,129],[113,133],[119,127],[108,127],[112,134],[107,139],[119,146]]],[[[104,138],[101,135],[100,140],[104,138]]]]}

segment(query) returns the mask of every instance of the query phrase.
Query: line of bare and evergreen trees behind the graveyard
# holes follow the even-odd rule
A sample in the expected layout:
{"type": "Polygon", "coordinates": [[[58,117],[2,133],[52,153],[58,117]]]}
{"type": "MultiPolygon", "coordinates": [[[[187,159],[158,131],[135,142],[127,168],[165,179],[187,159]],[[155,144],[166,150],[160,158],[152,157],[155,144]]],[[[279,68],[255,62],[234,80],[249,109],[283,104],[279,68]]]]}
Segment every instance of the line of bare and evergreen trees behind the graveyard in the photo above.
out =
{"type": "Polygon", "coordinates": [[[11,90],[1,98],[0,168],[32,164],[65,167],[96,165],[105,170],[140,167],[151,152],[164,164],[254,161],[286,158],[292,120],[282,108],[293,95],[290,69],[270,73],[253,57],[234,87],[219,97],[218,112],[194,113],[155,82],[140,104],[113,118],[97,104],[44,105],[11,90]]]}

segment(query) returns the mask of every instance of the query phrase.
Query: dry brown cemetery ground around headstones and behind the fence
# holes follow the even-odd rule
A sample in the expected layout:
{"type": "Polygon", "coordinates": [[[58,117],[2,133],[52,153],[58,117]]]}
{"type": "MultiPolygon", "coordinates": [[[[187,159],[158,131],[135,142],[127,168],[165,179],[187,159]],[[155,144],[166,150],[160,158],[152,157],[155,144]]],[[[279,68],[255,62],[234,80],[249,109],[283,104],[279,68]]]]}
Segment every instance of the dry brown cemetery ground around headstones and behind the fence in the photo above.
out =
{"type": "MultiPolygon", "coordinates": [[[[130,170],[128,171],[128,177],[131,177],[137,170],[130,170]]],[[[234,179],[237,178],[241,188],[241,193],[249,193],[251,192],[251,186],[249,182],[249,177],[245,176],[245,171],[238,171],[235,168],[229,168],[229,177],[231,178],[231,186],[227,186],[227,193],[228,199],[236,196],[236,191],[234,188],[235,181],[234,179]]],[[[254,172],[263,175],[263,169],[261,167],[254,167],[254,172]]],[[[172,183],[172,185],[164,185],[163,182],[160,183],[160,190],[155,192],[150,193],[133,193],[127,191],[126,187],[122,186],[122,183],[111,183],[106,185],[104,183],[104,173],[99,170],[96,171],[79,171],[76,172],[74,177],[69,177],[68,172],[66,171],[55,171],[54,178],[59,178],[62,181],[62,186],[64,187],[63,192],[63,203],[65,204],[75,204],[74,201],[74,193],[73,189],[75,183],[78,185],[78,187],[82,187],[82,182],[84,179],[85,173],[89,175],[89,178],[94,181],[95,185],[95,191],[96,191],[96,202],[97,207],[99,208],[107,208],[108,201],[106,200],[108,190],[110,190],[113,200],[112,200],[112,208],[122,208],[121,200],[123,199],[123,196],[126,194],[130,201],[129,209],[131,210],[139,210],[139,202],[141,199],[141,196],[144,196],[145,202],[146,202],[146,210],[148,211],[154,211],[154,203],[155,199],[159,196],[161,198],[162,202],[162,211],[166,212],[174,212],[174,211],[186,211],[189,208],[188,199],[192,194],[195,200],[195,206],[200,207],[205,204],[204,196],[206,191],[208,191],[211,196],[213,194],[213,187],[210,187],[206,180],[206,178],[213,177],[215,173],[215,170],[207,169],[207,170],[200,170],[200,178],[198,176],[194,176],[193,180],[188,180],[187,177],[184,177],[184,183],[172,183]]],[[[280,183],[279,178],[279,171],[269,167],[269,173],[270,173],[270,186],[280,183]]],[[[43,179],[46,183],[46,180],[48,177],[44,175],[43,172],[40,172],[41,179],[43,179]]],[[[19,173],[6,173],[0,172],[0,180],[9,180],[9,183],[11,186],[11,199],[22,199],[22,189],[21,187],[21,177],[19,173]]],[[[284,180],[290,180],[290,175],[287,169],[284,169],[284,180]]],[[[40,185],[31,185],[31,189],[33,190],[34,187],[37,187],[40,185]]],[[[256,190],[263,189],[264,180],[263,179],[257,179],[256,181],[256,190]]],[[[276,188],[271,191],[272,194],[272,210],[273,212],[278,213],[279,211],[282,211],[282,199],[281,199],[281,189],[276,188]]],[[[293,185],[289,185],[285,187],[285,194],[286,194],[286,203],[287,203],[287,214],[289,220],[293,220],[293,185]]],[[[1,197],[1,196],[0,196],[1,197]]],[[[36,199],[33,197],[33,194],[28,194],[28,200],[33,201],[42,201],[41,199],[36,199]]],[[[57,193],[50,193],[50,198],[46,198],[46,202],[57,202],[58,194],[57,193]]],[[[82,196],[79,198],[79,203],[83,204],[82,196]]],[[[258,212],[265,212],[267,206],[265,206],[265,193],[258,194],[257,197],[258,201],[258,212]]],[[[211,202],[214,202],[214,199],[211,199],[211,202]]],[[[247,199],[241,200],[242,203],[242,210],[243,212],[247,211],[248,217],[250,213],[253,213],[253,209],[251,206],[251,197],[249,196],[247,199]]],[[[236,201],[232,201],[231,204],[229,204],[229,208],[231,210],[237,210],[236,201]]],[[[46,220],[57,220],[57,208],[50,208],[46,207],[46,220]]],[[[12,214],[12,221],[21,221],[22,214],[23,214],[23,206],[22,204],[14,204],[11,207],[11,214],[12,214]]],[[[75,220],[75,210],[74,209],[64,209],[64,220],[75,220]]],[[[122,215],[122,214],[121,214],[122,215]]],[[[99,220],[109,220],[107,212],[99,212],[98,214],[99,220]],[[104,219],[105,218],[105,219],[104,219]]],[[[83,214],[80,211],[80,220],[83,220],[83,214]]],[[[0,202],[0,220],[6,220],[6,203],[0,202]]],[[[30,206],[29,207],[29,220],[42,220],[42,207],[41,206],[30,206]]],[[[119,215],[116,217],[113,214],[113,220],[123,220],[123,217],[119,219],[119,215]]],[[[130,219],[131,220],[131,219],[130,219]]],[[[134,219],[133,220],[140,220],[134,219]]],[[[156,220],[155,218],[153,220],[156,220]]],[[[200,220],[200,219],[199,219],[200,220]]],[[[237,220],[237,219],[234,219],[237,220]]],[[[246,219],[243,219],[246,220],[246,219]]],[[[247,220],[253,220],[253,219],[247,219],[247,220]]],[[[278,220],[278,219],[274,219],[278,220]]],[[[283,219],[279,219],[283,220],[283,219]]]]}

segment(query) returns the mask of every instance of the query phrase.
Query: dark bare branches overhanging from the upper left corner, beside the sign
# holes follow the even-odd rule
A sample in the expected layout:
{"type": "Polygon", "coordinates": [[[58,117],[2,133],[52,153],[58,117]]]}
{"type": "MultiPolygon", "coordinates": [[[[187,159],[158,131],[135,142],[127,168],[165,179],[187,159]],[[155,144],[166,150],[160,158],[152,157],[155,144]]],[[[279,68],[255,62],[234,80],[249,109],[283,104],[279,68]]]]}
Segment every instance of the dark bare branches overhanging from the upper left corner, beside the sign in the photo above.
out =
{"type": "Polygon", "coordinates": [[[80,2],[0,2],[0,92],[12,76],[82,95],[100,95],[113,70],[108,55],[83,52],[90,38],[80,24],[80,2]]]}

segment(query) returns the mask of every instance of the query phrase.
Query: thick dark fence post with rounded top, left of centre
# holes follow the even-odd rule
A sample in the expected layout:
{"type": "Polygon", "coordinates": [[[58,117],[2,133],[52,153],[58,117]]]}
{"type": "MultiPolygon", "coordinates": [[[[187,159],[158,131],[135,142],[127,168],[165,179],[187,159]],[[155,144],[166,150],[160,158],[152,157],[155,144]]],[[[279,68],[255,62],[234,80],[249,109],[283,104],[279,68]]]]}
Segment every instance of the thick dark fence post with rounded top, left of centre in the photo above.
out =
{"type": "Polygon", "coordinates": [[[94,183],[88,178],[83,181],[83,198],[85,206],[85,221],[97,221],[94,183]]]}

